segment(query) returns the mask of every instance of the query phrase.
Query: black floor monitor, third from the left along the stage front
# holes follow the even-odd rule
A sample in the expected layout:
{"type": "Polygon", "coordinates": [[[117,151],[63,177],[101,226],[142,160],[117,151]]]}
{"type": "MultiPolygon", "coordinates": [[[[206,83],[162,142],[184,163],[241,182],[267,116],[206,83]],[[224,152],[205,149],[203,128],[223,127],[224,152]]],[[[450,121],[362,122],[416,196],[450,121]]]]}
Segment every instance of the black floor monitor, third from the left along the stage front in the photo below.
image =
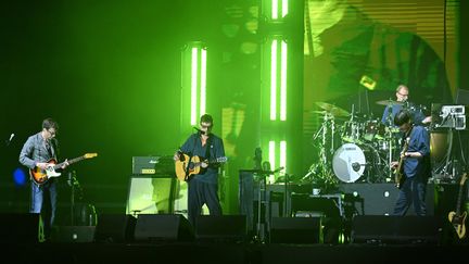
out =
{"type": "Polygon", "coordinates": [[[130,242],[134,240],[136,217],[126,214],[101,214],[94,231],[97,242],[130,242]]]}

